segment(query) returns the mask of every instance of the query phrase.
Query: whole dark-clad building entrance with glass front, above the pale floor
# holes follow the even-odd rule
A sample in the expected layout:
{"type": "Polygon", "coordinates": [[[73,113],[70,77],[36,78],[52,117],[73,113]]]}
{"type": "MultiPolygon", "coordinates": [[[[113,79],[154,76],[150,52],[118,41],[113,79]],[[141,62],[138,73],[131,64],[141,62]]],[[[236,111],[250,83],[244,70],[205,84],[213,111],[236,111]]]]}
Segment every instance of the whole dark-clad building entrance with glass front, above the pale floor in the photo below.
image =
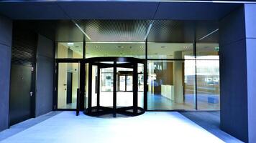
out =
{"type": "Polygon", "coordinates": [[[220,110],[224,132],[255,142],[255,13],[254,1],[1,1],[0,130],[136,104],[220,110]]]}

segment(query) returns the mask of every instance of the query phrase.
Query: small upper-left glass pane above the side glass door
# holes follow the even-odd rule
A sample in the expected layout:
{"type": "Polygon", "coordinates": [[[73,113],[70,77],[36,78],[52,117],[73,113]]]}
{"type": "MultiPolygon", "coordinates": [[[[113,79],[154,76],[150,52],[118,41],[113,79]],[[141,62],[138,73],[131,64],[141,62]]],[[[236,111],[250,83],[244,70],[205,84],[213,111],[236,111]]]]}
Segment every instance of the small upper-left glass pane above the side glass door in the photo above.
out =
{"type": "Polygon", "coordinates": [[[58,42],[56,48],[56,59],[83,58],[83,42],[58,42]]]}

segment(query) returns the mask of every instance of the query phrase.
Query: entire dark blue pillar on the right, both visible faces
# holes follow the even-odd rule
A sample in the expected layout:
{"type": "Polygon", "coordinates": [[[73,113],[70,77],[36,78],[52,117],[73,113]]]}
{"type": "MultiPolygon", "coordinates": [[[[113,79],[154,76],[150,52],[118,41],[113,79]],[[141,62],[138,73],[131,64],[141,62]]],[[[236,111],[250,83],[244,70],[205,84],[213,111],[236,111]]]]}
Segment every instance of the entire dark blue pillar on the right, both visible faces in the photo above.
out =
{"type": "Polygon", "coordinates": [[[221,129],[256,142],[256,4],[245,4],[220,21],[221,129]]]}

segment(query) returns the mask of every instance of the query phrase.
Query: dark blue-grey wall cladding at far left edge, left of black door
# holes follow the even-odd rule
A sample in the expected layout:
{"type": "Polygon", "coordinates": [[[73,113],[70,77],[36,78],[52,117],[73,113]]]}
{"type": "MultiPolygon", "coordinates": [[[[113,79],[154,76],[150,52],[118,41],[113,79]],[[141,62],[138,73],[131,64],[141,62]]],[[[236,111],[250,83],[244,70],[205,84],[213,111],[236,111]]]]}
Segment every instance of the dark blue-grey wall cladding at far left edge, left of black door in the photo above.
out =
{"type": "Polygon", "coordinates": [[[12,21],[0,16],[0,131],[9,124],[12,21]]]}

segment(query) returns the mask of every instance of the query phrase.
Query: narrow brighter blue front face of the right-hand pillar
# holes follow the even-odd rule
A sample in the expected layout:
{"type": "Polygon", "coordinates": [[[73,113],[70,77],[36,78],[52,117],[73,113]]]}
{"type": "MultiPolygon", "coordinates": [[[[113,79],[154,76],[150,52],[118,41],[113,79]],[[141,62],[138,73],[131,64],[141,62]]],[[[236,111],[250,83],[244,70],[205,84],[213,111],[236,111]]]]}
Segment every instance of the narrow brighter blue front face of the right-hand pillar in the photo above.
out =
{"type": "Polygon", "coordinates": [[[246,24],[248,141],[256,142],[256,4],[244,4],[246,24]]]}

